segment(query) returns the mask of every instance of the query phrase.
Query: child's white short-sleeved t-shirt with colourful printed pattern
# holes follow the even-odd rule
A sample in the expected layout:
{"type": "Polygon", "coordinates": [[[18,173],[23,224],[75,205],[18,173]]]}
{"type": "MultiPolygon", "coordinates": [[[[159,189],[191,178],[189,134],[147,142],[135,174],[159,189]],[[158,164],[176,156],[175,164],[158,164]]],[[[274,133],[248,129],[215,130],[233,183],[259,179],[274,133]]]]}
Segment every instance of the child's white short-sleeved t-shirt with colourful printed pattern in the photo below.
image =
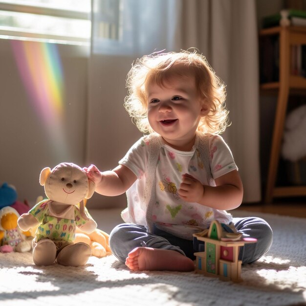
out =
{"type": "MultiPolygon", "coordinates": [[[[198,137],[198,136],[197,136],[198,137]]],[[[211,135],[208,140],[210,169],[214,179],[237,170],[232,153],[222,137],[211,135]]],[[[150,153],[149,141],[146,136],[140,138],[119,161],[137,176],[136,189],[127,193],[129,205],[142,207],[135,209],[135,220],[144,223],[145,203],[139,203],[143,198],[145,179],[147,176],[147,161],[150,153]]],[[[156,165],[155,203],[152,219],[156,227],[177,237],[192,240],[192,234],[209,227],[213,219],[228,224],[232,216],[224,210],[217,210],[198,203],[185,202],[177,193],[182,175],[189,174],[203,185],[209,185],[203,161],[196,146],[192,151],[178,151],[163,144],[156,165]]],[[[146,224],[142,224],[146,225],[146,224]]]]}

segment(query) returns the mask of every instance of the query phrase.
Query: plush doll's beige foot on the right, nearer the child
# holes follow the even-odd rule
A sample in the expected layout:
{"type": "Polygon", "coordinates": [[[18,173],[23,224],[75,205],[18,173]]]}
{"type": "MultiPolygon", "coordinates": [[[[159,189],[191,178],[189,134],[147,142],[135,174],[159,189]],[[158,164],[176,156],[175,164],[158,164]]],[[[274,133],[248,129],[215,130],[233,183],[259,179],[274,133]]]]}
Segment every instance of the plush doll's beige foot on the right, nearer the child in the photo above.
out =
{"type": "Polygon", "coordinates": [[[84,242],[72,243],[65,246],[57,256],[57,263],[78,267],[84,265],[91,255],[90,246],[84,242]]]}

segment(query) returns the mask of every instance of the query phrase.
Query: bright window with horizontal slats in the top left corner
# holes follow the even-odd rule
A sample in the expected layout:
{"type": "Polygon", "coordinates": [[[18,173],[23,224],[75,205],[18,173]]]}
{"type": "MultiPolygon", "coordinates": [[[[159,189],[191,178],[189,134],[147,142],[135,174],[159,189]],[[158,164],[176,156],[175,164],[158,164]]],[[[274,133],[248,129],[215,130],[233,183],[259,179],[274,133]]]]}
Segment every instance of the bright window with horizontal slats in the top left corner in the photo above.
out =
{"type": "Polygon", "coordinates": [[[0,38],[90,44],[90,0],[0,1],[0,38]]]}

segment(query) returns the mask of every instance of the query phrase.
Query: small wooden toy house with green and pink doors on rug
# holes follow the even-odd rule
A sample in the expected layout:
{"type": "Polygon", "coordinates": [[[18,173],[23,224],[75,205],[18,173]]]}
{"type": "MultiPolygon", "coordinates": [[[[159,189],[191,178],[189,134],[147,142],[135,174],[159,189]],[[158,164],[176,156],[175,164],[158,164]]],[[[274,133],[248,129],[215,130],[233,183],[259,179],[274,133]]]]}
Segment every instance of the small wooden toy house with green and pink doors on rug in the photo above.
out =
{"type": "Polygon", "coordinates": [[[207,276],[219,276],[222,280],[240,282],[241,261],[238,260],[240,247],[256,239],[241,239],[240,233],[222,232],[221,224],[214,220],[208,230],[193,234],[198,252],[196,271],[207,276]]]}

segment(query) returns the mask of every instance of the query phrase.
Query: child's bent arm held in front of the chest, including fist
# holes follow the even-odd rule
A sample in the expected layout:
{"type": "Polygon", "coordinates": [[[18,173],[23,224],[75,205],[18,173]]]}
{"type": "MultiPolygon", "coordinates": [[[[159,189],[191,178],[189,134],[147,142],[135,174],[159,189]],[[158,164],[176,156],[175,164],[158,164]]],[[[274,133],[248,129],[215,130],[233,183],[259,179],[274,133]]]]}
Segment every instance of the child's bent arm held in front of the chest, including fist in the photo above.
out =
{"type": "Polygon", "coordinates": [[[237,170],[216,178],[215,182],[216,187],[203,186],[196,178],[186,174],[183,175],[178,194],[187,202],[196,202],[220,210],[240,206],[243,187],[237,170]]]}

